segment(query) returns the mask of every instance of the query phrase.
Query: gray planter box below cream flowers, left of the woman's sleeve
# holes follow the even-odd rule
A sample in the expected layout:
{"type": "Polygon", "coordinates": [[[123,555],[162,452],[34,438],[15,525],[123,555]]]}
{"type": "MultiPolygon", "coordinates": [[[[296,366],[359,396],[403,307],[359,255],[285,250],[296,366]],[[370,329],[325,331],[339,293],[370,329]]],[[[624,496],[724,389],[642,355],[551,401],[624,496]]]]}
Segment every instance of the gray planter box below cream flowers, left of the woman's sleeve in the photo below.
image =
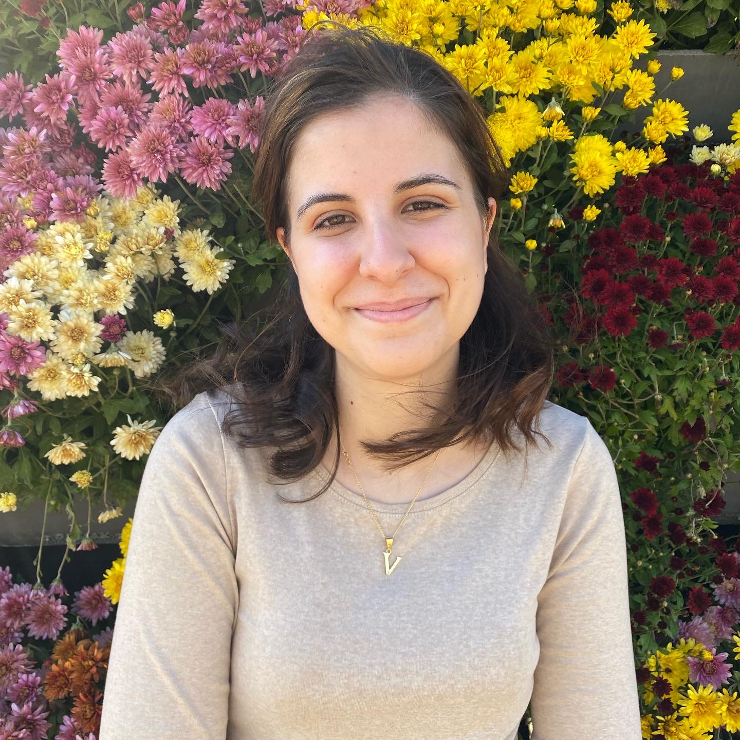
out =
{"type": "MultiPolygon", "coordinates": [[[[121,529],[133,517],[135,500],[121,507],[123,516],[98,524],[100,506],[92,509],[90,536],[98,545],[112,545],[121,539],[121,529]]],[[[77,524],[84,535],[87,532],[87,499],[76,499],[73,506],[77,524]]],[[[22,547],[38,545],[41,542],[41,527],[44,524],[44,502],[32,501],[27,508],[8,511],[0,514],[0,547],[22,547]]],[[[47,511],[47,522],[44,530],[44,545],[64,545],[70,531],[70,519],[67,511],[47,511]]]]}

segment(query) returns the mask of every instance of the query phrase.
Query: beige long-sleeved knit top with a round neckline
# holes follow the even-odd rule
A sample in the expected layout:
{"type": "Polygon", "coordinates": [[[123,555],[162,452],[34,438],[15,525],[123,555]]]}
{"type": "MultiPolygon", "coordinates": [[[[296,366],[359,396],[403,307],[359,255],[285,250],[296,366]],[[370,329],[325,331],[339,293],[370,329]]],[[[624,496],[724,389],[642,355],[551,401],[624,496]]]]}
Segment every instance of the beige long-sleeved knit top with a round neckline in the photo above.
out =
{"type": "MultiPolygon", "coordinates": [[[[269,448],[221,434],[229,403],[198,395],[152,448],[98,740],[515,740],[530,702],[533,740],[641,740],[621,499],[588,419],[546,402],[526,475],[494,443],[417,500],[388,576],[362,495],[281,501],[328,474],[268,482],[269,448]]],[[[371,499],[388,536],[411,499],[371,499]]]]}

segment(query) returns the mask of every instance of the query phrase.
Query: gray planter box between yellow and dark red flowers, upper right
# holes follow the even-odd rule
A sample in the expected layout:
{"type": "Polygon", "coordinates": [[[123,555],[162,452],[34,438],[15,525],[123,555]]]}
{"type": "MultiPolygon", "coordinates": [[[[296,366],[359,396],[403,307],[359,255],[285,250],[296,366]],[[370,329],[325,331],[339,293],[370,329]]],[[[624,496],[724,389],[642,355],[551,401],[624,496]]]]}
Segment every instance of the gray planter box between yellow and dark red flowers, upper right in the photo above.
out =
{"type": "MultiPolygon", "coordinates": [[[[693,127],[707,124],[713,131],[709,141],[697,144],[730,144],[732,132],[727,130],[730,119],[740,109],[740,54],[710,54],[699,49],[665,50],[656,54],[662,64],[655,75],[653,101],[670,98],[679,101],[688,111],[689,135],[693,127]],[[660,92],[670,81],[671,67],[682,67],[684,76],[673,82],[665,92],[660,92]]],[[[647,61],[640,58],[635,67],[647,69],[647,61]]],[[[615,102],[621,101],[621,96],[615,102]]],[[[623,132],[639,132],[653,107],[640,107],[634,124],[624,124],[623,132]]],[[[616,141],[616,139],[614,140],[616,141]]],[[[668,141],[672,141],[669,136],[668,141]]]]}

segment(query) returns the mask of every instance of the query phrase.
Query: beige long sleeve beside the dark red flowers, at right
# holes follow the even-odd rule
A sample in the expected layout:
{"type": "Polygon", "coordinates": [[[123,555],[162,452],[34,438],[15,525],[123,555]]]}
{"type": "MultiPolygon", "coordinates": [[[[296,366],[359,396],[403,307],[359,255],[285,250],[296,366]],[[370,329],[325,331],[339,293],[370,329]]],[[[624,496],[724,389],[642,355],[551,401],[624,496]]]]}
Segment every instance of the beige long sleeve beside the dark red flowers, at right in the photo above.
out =
{"type": "Polygon", "coordinates": [[[622,499],[587,421],[537,599],[533,740],[641,740],[622,499]]]}

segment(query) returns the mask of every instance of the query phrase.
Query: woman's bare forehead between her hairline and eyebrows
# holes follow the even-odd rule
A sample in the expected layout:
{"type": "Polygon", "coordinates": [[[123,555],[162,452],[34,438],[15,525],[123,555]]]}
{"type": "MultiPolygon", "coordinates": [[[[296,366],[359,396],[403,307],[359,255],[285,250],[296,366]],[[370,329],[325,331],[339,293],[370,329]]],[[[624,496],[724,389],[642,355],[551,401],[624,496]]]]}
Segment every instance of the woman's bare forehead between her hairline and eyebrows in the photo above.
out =
{"type": "Polygon", "coordinates": [[[288,167],[289,199],[319,187],[390,186],[418,172],[440,172],[460,182],[464,170],[456,144],[414,101],[376,96],[306,124],[288,167]]]}

